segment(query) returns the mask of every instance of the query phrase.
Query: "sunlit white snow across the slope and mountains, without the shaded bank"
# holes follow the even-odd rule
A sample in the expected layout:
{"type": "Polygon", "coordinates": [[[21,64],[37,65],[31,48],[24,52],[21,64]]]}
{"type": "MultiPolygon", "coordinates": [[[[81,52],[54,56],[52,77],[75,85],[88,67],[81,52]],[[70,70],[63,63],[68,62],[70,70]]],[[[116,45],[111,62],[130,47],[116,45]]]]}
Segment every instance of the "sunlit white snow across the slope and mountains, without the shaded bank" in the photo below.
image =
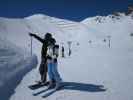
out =
{"type": "MultiPolygon", "coordinates": [[[[9,53],[15,48],[23,57],[30,56],[28,32],[36,33],[42,38],[46,32],[51,32],[57,43],[65,46],[66,57],[59,57],[58,70],[68,86],[56,92],[45,91],[47,87],[29,89],[28,86],[40,79],[38,64],[36,69],[23,77],[10,100],[132,100],[132,27],[132,15],[124,14],[96,16],[82,22],[43,14],[24,19],[0,18],[1,39],[8,41],[8,45],[11,42],[11,47],[13,46],[12,50],[8,50],[9,53]],[[68,41],[72,41],[70,57],[67,56],[68,41]],[[34,96],[35,94],[38,95],[34,96]]],[[[41,44],[33,39],[33,54],[37,55],[39,63],[40,52],[41,44]]],[[[15,60],[19,62],[19,59],[15,60]]]]}

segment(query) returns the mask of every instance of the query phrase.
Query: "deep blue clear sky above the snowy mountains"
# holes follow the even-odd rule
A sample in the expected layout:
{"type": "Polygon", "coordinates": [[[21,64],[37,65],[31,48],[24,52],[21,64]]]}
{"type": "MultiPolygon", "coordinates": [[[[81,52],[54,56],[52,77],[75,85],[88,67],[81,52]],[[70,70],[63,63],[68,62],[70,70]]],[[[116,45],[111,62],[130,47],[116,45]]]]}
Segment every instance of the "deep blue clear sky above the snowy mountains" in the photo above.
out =
{"type": "Polygon", "coordinates": [[[90,16],[126,11],[133,0],[0,0],[0,17],[23,18],[42,13],[81,21],[90,16]]]}

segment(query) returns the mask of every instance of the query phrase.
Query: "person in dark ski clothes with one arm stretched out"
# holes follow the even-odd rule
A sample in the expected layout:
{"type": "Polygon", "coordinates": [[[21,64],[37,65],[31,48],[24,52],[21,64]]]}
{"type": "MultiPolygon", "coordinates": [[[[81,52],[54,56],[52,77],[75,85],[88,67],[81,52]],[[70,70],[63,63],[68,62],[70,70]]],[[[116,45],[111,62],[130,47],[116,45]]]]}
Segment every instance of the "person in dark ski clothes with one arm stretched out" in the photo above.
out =
{"type": "Polygon", "coordinates": [[[39,67],[39,72],[41,75],[41,81],[39,81],[40,84],[49,84],[47,82],[47,47],[50,43],[50,39],[52,39],[52,35],[50,33],[46,33],[44,36],[44,39],[40,38],[36,34],[29,33],[30,36],[36,38],[39,40],[43,45],[42,45],[42,50],[41,50],[41,63],[39,67]]]}

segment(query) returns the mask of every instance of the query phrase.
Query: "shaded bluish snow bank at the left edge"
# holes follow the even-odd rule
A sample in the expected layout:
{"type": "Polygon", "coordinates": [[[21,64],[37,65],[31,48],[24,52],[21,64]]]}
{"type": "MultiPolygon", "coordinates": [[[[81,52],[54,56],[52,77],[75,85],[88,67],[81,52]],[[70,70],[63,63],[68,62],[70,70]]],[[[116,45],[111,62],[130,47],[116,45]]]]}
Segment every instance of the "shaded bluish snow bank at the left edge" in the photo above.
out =
{"type": "Polygon", "coordinates": [[[24,54],[21,48],[0,39],[0,97],[9,99],[22,77],[36,64],[36,56],[24,54]]]}

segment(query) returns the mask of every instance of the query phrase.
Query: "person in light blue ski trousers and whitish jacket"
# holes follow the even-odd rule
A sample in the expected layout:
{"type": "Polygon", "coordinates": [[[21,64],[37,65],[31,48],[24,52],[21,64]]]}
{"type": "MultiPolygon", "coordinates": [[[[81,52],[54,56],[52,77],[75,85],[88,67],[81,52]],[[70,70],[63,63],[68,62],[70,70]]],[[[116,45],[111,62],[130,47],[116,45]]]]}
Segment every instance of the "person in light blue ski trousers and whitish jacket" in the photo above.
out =
{"type": "Polygon", "coordinates": [[[55,43],[56,43],[55,39],[51,39],[51,43],[48,46],[47,50],[48,75],[50,79],[50,84],[48,88],[55,87],[55,89],[59,89],[59,87],[61,86],[60,83],[62,79],[57,69],[59,45],[56,45],[55,43]],[[53,83],[53,80],[55,80],[55,83],[53,83]]]}

